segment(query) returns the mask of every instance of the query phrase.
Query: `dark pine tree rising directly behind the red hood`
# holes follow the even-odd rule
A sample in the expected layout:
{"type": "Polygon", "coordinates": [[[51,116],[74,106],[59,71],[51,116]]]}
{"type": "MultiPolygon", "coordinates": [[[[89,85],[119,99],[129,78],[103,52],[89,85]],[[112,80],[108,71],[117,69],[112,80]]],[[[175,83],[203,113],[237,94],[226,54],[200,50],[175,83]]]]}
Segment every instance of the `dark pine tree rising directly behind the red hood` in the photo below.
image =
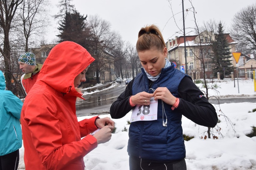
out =
{"type": "Polygon", "coordinates": [[[84,48],[87,48],[87,39],[89,38],[89,29],[85,25],[87,15],[81,15],[76,10],[72,13],[67,13],[64,20],[59,24],[58,30],[60,34],[57,35],[60,38],[59,42],[73,41],[84,48]]]}

